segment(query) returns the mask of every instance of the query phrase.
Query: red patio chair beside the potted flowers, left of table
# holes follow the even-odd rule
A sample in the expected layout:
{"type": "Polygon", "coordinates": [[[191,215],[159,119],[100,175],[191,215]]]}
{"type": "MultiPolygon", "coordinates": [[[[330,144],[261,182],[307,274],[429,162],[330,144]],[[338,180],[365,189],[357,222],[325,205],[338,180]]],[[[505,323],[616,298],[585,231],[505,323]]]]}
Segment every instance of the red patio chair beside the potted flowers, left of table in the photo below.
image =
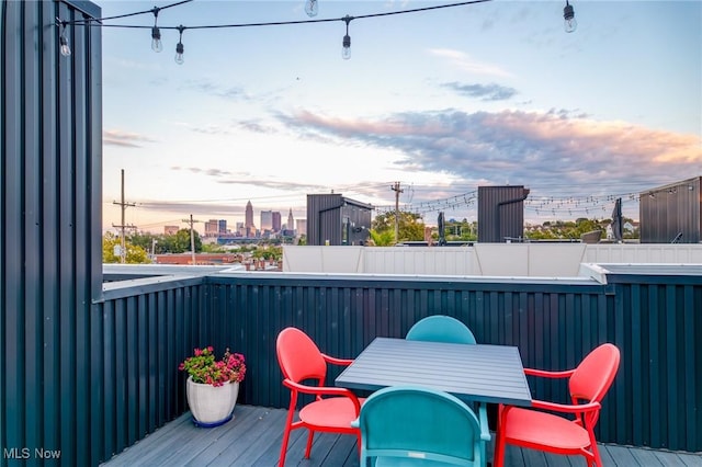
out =
{"type": "Polygon", "coordinates": [[[275,350],[278,363],[283,372],[283,385],[291,390],[280,467],[285,465],[290,432],[296,429],[306,428],[309,430],[305,458],[309,458],[316,431],[353,434],[361,446],[361,432],[358,428],[352,428],[351,422],[359,418],[363,399],[356,398],[349,389],[324,386],[327,364],[350,365],[353,361],[325,355],[313,340],[297,328],[283,329],[278,334],[275,350]],[[303,384],[306,379],[314,380],[317,385],[303,384]],[[298,420],[294,421],[297,397],[301,392],[314,395],[315,400],[304,406],[297,415],[298,420]]]}

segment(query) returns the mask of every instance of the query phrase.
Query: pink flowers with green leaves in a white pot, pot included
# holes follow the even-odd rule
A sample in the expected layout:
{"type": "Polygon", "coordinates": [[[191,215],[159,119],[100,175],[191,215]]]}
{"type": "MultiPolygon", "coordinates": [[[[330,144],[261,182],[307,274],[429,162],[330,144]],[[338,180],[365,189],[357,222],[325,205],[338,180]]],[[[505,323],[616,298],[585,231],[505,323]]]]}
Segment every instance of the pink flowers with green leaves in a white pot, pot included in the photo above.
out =
{"type": "Polygon", "coordinates": [[[194,354],[180,364],[188,372],[188,406],[197,426],[219,426],[234,414],[239,395],[239,383],[246,375],[244,355],[229,349],[216,360],[214,349],[195,349],[194,354]]]}

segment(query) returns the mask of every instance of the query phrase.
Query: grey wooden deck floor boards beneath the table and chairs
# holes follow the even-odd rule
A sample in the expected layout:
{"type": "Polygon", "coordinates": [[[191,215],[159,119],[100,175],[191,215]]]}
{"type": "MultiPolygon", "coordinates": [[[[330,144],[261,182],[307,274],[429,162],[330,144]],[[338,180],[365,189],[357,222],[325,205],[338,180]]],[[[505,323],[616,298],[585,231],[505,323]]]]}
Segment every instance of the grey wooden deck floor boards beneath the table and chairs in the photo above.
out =
{"type": "MultiPolygon", "coordinates": [[[[103,466],[275,466],[285,414],[286,411],[282,409],[238,405],[233,421],[214,429],[199,429],[191,422],[190,413],[185,413],[103,466]]],[[[303,459],[305,433],[304,430],[293,432],[286,466],[359,466],[355,438],[349,435],[317,435],[310,458],[303,459]]],[[[601,454],[604,465],[612,467],[702,467],[702,454],[614,445],[602,445],[601,454]]],[[[585,460],[510,446],[506,466],[585,466],[585,460]]]]}

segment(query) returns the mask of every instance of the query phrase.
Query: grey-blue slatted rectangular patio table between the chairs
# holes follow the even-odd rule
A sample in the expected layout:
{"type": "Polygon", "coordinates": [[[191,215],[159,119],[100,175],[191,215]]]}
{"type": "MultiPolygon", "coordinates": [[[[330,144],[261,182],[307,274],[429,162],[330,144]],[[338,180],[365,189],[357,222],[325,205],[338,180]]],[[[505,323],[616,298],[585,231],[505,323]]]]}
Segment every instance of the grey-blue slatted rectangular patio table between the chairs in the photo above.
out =
{"type": "Polygon", "coordinates": [[[531,406],[519,349],[375,338],[336,378],[348,389],[420,385],[464,401],[531,406]]]}

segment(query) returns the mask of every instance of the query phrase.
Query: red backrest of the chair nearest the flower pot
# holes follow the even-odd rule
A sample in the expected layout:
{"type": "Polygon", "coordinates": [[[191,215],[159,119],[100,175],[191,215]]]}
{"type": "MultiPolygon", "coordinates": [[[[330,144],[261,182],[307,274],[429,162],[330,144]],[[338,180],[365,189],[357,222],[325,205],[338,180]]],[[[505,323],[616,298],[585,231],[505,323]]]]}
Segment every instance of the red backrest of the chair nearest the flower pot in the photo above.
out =
{"type": "Polygon", "coordinates": [[[275,341],[275,353],[284,377],[295,383],[310,378],[325,380],[327,363],[317,344],[299,329],[283,329],[275,341]]]}

